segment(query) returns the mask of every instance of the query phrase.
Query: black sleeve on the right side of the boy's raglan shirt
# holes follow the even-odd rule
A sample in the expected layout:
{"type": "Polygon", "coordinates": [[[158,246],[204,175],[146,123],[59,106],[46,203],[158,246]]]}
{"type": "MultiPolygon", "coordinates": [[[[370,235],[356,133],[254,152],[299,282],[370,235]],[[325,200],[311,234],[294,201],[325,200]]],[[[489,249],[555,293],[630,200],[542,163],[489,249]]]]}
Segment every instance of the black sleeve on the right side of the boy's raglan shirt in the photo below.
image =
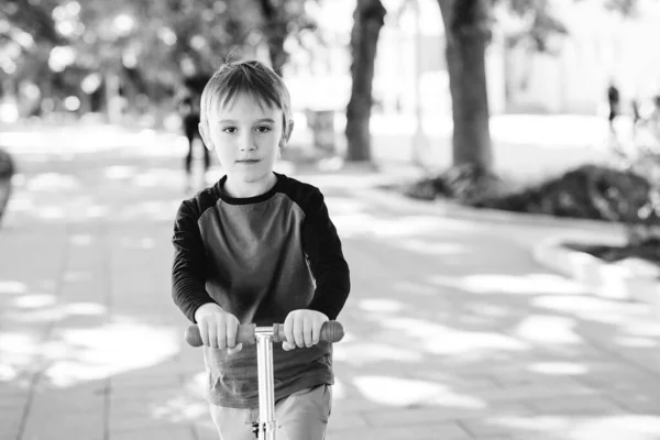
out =
{"type": "Polygon", "coordinates": [[[308,309],[337,319],[351,290],[350,272],[323,196],[316,188],[305,212],[302,245],[316,279],[316,292],[308,309]]]}

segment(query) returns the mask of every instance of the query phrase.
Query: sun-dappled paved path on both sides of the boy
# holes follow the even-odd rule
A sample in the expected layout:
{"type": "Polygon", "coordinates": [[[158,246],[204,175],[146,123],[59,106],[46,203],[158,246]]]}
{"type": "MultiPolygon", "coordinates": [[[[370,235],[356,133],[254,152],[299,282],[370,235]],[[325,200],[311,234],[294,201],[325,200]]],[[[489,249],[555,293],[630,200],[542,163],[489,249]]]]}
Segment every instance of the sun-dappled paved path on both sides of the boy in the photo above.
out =
{"type": "MultiPolygon", "coordinates": [[[[1,440],[216,438],[169,297],[168,148],[18,153],[1,440]]],[[[377,175],[292,175],[326,194],[352,267],[328,439],[660,439],[660,324],[531,260],[564,229],[373,197],[377,175]]]]}

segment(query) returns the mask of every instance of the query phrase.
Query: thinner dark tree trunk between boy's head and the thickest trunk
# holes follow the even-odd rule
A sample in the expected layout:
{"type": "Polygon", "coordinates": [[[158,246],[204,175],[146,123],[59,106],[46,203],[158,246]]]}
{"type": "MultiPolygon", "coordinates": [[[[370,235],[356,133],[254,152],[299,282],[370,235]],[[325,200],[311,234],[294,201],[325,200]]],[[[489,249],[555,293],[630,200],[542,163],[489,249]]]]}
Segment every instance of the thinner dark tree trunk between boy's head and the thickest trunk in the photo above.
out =
{"type": "Polygon", "coordinates": [[[369,121],[378,35],[386,10],[381,0],[358,0],[351,32],[351,99],[346,108],[348,156],[351,162],[371,161],[369,121]]]}

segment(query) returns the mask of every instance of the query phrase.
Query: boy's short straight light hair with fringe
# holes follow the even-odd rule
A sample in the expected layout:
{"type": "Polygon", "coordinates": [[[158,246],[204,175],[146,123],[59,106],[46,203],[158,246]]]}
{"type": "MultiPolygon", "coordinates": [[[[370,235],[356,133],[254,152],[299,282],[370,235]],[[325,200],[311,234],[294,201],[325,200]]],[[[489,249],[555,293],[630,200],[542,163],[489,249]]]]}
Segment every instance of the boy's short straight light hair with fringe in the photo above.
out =
{"type": "Polygon", "coordinates": [[[261,105],[282,109],[284,134],[290,134],[293,112],[288,89],[275,72],[253,59],[224,63],[216,70],[201,92],[201,123],[208,123],[213,106],[220,103],[224,107],[239,94],[249,94],[261,105]]]}

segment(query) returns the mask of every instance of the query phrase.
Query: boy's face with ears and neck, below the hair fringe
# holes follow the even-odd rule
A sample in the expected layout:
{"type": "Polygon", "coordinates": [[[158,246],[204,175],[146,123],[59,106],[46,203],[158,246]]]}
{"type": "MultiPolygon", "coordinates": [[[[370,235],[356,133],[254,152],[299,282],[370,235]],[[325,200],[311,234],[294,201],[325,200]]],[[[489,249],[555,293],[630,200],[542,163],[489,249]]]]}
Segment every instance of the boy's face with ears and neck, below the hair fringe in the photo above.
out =
{"type": "Polygon", "coordinates": [[[227,106],[209,109],[200,132],[218,155],[232,185],[260,184],[273,177],[277,150],[284,145],[283,111],[250,95],[237,95],[227,106]]]}

